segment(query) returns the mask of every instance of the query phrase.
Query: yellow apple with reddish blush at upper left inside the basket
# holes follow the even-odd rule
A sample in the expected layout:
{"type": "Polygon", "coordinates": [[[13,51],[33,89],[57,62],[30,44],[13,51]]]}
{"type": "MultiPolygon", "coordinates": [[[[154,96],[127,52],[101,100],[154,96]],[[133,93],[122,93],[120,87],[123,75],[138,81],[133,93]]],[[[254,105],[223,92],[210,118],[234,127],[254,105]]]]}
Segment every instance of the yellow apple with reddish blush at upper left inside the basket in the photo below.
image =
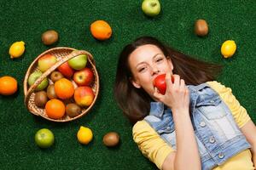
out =
{"type": "Polygon", "coordinates": [[[53,54],[44,54],[43,57],[38,59],[38,68],[40,71],[47,71],[52,65],[55,65],[57,58],[53,54]]]}

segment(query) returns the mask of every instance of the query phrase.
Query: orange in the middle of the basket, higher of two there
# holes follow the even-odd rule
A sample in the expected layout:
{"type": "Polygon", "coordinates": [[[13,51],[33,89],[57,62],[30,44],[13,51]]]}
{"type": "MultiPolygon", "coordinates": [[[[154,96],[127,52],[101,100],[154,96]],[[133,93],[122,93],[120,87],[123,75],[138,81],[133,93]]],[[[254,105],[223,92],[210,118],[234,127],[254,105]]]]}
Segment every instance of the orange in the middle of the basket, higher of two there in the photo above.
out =
{"type": "Polygon", "coordinates": [[[69,99],[73,97],[74,88],[73,83],[67,78],[61,78],[55,82],[55,94],[60,99],[69,99]]]}

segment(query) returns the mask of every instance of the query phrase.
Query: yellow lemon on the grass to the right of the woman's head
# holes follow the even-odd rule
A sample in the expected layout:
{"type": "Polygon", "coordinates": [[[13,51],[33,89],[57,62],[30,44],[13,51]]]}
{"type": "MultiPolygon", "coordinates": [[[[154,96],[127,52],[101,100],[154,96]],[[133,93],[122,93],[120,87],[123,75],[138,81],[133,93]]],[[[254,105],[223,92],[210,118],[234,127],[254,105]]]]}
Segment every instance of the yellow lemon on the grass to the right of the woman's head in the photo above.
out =
{"type": "Polygon", "coordinates": [[[221,46],[221,54],[224,58],[232,57],[236,52],[236,42],[233,40],[225,41],[221,46]]]}

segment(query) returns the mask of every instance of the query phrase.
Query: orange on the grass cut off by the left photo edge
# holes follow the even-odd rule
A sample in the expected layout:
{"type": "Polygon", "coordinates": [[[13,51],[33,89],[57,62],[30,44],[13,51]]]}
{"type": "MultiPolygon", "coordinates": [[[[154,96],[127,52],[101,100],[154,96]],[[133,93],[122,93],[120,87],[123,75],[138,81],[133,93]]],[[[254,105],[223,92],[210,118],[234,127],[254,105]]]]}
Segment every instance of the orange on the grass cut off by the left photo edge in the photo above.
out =
{"type": "Polygon", "coordinates": [[[11,95],[15,94],[18,89],[18,82],[14,77],[0,77],[0,94],[11,95]]]}

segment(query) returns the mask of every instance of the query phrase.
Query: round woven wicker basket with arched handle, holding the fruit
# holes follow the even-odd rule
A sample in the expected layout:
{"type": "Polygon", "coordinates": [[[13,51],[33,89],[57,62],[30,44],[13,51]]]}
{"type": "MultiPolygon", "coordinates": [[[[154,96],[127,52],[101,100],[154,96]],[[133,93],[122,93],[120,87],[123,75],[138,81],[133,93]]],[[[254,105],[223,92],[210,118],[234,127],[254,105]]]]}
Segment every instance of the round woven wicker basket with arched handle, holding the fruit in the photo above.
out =
{"type": "MultiPolygon", "coordinates": [[[[53,82],[49,81],[49,84],[50,83],[53,83],[53,82]]],[[[73,85],[74,85],[75,88],[77,87],[75,82],[73,82],[73,85]]],[[[98,73],[96,71],[96,64],[95,64],[95,61],[94,61],[92,55],[90,53],[88,53],[87,51],[84,51],[84,50],[76,50],[74,48],[65,48],[65,47],[50,48],[49,50],[45,51],[44,53],[39,54],[38,57],[36,59],[34,59],[32,64],[29,66],[29,68],[26,71],[26,77],[25,77],[25,80],[24,80],[24,94],[25,94],[26,108],[32,114],[34,114],[36,116],[42,116],[42,117],[44,117],[45,119],[47,119],[49,121],[70,122],[70,121],[73,121],[75,119],[78,119],[81,116],[84,116],[86,113],[88,113],[88,111],[90,111],[91,107],[95,104],[98,93],[99,93],[99,76],[98,76],[98,73]],[[33,71],[38,71],[38,59],[40,57],[44,56],[44,54],[53,54],[58,59],[58,61],[55,63],[55,65],[50,67],[49,70],[45,71],[41,75],[41,77],[39,77],[37,79],[37,81],[31,87],[28,87],[28,83],[27,83],[28,77],[30,76],[30,74],[33,71]],[[94,79],[94,82],[91,84],[90,87],[92,88],[92,90],[95,94],[95,98],[94,98],[93,102],[91,103],[91,105],[89,107],[86,107],[86,108],[82,107],[82,112],[79,114],[79,116],[69,117],[69,116],[67,116],[67,114],[65,114],[65,116],[61,117],[61,119],[51,119],[46,115],[44,108],[40,108],[37,105],[35,105],[35,103],[34,103],[35,89],[38,87],[40,82],[42,82],[45,77],[49,77],[50,73],[52,71],[55,71],[55,69],[58,66],[65,63],[68,59],[72,59],[73,57],[76,57],[80,54],[86,54],[87,55],[87,65],[86,65],[86,67],[89,67],[94,73],[95,79],[94,79]]],[[[68,102],[73,102],[73,99],[70,99],[69,101],[64,101],[64,103],[66,103],[66,102],[67,103],[68,102]]]]}

